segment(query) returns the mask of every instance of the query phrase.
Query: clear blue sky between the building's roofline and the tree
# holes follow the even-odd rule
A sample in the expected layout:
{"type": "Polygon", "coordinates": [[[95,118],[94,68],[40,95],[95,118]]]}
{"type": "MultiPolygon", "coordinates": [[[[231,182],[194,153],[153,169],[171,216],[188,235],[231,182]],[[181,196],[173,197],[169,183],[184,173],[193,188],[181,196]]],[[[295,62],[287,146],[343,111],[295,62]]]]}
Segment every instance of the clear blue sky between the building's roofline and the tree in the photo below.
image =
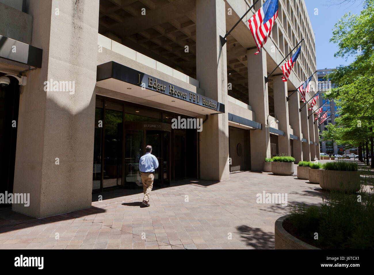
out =
{"type": "Polygon", "coordinates": [[[316,55],[317,69],[336,68],[338,65],[347,65],[353,61],[349,57],[335,58],[337,44],[330,43],[332,29],[345,13],[352,12],[359,14],[363,9],[362,0],[356,3],[345,3],[341,5],[331,5],[343,2],[343,0],[305,0],[310,22],[316,37],[316,55]],[[315,9],[318,9],[318,15],[315,15],[315,9]]]}

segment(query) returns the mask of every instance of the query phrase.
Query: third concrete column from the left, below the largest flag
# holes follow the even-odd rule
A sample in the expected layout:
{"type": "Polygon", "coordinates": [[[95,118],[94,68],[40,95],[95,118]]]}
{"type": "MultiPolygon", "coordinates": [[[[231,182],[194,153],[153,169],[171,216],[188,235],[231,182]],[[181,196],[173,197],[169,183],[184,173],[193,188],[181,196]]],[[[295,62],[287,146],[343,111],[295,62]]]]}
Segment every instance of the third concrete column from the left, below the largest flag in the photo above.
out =
{"type": "Polygon", "coordinates": [[[262,130],[251,131],[251,170],[264,169],[264,159],[270,158],[270,132],[266,125],[269,114],[269,98],[265,76],[267,76],[266,52],[255,55],[257,49],[247,51],[249,105],[254,120],[262,124],[262,130]]]}

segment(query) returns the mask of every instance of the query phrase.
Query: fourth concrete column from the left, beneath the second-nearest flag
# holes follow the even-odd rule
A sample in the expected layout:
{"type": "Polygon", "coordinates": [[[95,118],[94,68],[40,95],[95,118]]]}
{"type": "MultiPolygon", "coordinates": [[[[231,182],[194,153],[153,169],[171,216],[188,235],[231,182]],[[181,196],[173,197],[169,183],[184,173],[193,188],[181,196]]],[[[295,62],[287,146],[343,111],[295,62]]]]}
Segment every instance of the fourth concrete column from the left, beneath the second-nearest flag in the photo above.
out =
{"type": "MultiPolygon", "coordinates": [[[[284,136],[278,136],[279,155],[291,156],[291,146],[289,144],[289,117],[287,97],[287,82],[281,76],[273,77],[274,90],[274,111],[278,117],[278,129],[284,132],[284,136]]],[[[270,125],[271,126],[271,125],[270,125]]]]}

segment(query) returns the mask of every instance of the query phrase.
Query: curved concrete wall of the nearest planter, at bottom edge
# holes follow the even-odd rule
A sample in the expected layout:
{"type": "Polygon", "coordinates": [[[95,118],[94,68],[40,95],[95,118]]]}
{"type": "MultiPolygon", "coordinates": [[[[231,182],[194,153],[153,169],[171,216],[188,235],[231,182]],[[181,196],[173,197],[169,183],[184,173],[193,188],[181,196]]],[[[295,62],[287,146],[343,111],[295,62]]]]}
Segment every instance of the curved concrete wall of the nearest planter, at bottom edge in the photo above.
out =
{"type": "Polygon", "coordinates": [[[275,221],[275,249],[319,249],[313,245],[307,244],[306,242],[300,241],[283,228],[283,221],[288,217],[282,216],[275,221]]]}

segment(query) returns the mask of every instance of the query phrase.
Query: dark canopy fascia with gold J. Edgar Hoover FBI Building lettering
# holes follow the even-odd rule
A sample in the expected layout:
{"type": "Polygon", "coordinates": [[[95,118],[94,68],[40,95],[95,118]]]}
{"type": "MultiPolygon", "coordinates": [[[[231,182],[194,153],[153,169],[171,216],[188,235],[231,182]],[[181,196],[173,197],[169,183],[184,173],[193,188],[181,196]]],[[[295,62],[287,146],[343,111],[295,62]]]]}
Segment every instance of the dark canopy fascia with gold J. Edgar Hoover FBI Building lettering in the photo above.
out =
{"type": "Polygon", "coordinates": [[[225,105],[218,101],[212,100],[203,95],[196,94],[188,91],[172,83],[166,82],[154,76],[142,73],[132,68],[126,67],[125,65],[119,64],[114,61],[110,61],[97,66],[96,81],[105,79],[117,79],[123,82],[127,82],[142,88],[159,92],[180,100],[184,100],[190,103],[197,104],[202,107],[218,111],[220,113],[225,112],[225,105]]]}

